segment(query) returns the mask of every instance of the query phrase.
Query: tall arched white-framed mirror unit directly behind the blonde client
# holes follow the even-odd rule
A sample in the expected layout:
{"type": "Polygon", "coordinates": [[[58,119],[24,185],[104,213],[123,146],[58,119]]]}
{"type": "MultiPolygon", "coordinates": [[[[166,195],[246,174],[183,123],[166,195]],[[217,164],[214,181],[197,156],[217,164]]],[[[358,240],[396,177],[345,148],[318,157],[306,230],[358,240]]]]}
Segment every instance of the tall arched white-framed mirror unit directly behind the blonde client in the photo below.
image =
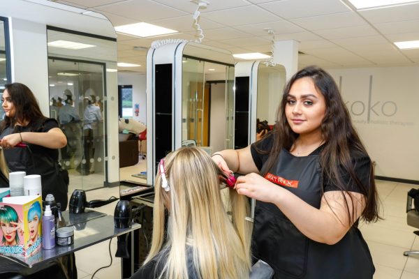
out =
{"type": "Polygon", "coordinates": [[[189,41],[162,42],[147,54],[147,183],[156,164],[181,146],[232,148],[234,59],[189,41]]]}

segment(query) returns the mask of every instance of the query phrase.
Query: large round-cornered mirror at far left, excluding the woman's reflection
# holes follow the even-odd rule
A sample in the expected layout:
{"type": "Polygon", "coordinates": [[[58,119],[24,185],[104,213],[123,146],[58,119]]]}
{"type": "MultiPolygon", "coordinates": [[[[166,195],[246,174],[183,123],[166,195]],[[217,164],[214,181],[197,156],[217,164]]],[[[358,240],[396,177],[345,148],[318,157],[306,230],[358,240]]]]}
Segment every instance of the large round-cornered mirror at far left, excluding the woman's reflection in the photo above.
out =
{"type": "Polygon", "coordinates": [[[43,0],[8,1],[0,16],[8,18],[13,38],[13,81],[27,84],[43,114],[66,130],[68,146],[59,160],[70,174],[68,193],[118,186],[117,36],[110,21],[43,0]],[[89,105],[97,107],[95,123],[85,116],[89,105]],[[60,116],[64,107],[72,117],[60,116]],[[83,160],[90,167],[80,174],[76,169],[83,160]]]}

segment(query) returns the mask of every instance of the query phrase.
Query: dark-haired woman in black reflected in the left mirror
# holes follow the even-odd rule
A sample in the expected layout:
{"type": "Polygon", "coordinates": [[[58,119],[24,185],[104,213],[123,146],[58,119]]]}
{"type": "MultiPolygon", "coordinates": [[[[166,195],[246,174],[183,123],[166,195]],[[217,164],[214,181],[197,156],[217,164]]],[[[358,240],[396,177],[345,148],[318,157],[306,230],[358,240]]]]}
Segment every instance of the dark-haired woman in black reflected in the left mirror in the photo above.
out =
{"type": "Polygon", "coordinates": [[[66,146],[55,119],[43,116],[34,93],[24,84],[6,84],[1,97],[5,112],[0,123],[0,146],[10,172],[41,174],[43,200],[47,194],[67,207],[68,172],[58,163],[58,149],[66,146]],[[23,142],[26,147],[17,147],[23,142]]]}

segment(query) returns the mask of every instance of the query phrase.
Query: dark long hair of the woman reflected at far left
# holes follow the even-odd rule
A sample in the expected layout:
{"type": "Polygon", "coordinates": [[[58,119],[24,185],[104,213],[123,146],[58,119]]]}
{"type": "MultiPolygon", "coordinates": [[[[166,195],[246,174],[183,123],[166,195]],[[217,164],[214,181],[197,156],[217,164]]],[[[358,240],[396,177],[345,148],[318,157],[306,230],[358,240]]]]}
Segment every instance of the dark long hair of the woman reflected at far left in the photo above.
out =
{"type": "Polygon", "coordinates": [[[14,82],[6,84],[5,88],[15,107],[15,115],[12,117],[4,116],[4,121],[0,125],[0,132],[8,126],[15,126],[17,122],[29,121],[28,126],[34,126],[38,121],[46,119],[39,108],[34,93],[28,86],[14,82]]]}

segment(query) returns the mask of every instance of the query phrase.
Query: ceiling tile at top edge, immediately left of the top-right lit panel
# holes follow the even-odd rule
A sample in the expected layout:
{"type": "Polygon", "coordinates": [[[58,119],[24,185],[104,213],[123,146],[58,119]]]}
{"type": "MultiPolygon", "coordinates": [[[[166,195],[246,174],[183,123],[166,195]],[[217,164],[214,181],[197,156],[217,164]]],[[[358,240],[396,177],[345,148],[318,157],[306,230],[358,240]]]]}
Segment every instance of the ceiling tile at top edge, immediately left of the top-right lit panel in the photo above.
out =
{"type": "Polygon", "coordinates": [[[337,0],[284,0],[259,5],[285,19],[313,17],[348,12],[341,1],[337,0]]]}

